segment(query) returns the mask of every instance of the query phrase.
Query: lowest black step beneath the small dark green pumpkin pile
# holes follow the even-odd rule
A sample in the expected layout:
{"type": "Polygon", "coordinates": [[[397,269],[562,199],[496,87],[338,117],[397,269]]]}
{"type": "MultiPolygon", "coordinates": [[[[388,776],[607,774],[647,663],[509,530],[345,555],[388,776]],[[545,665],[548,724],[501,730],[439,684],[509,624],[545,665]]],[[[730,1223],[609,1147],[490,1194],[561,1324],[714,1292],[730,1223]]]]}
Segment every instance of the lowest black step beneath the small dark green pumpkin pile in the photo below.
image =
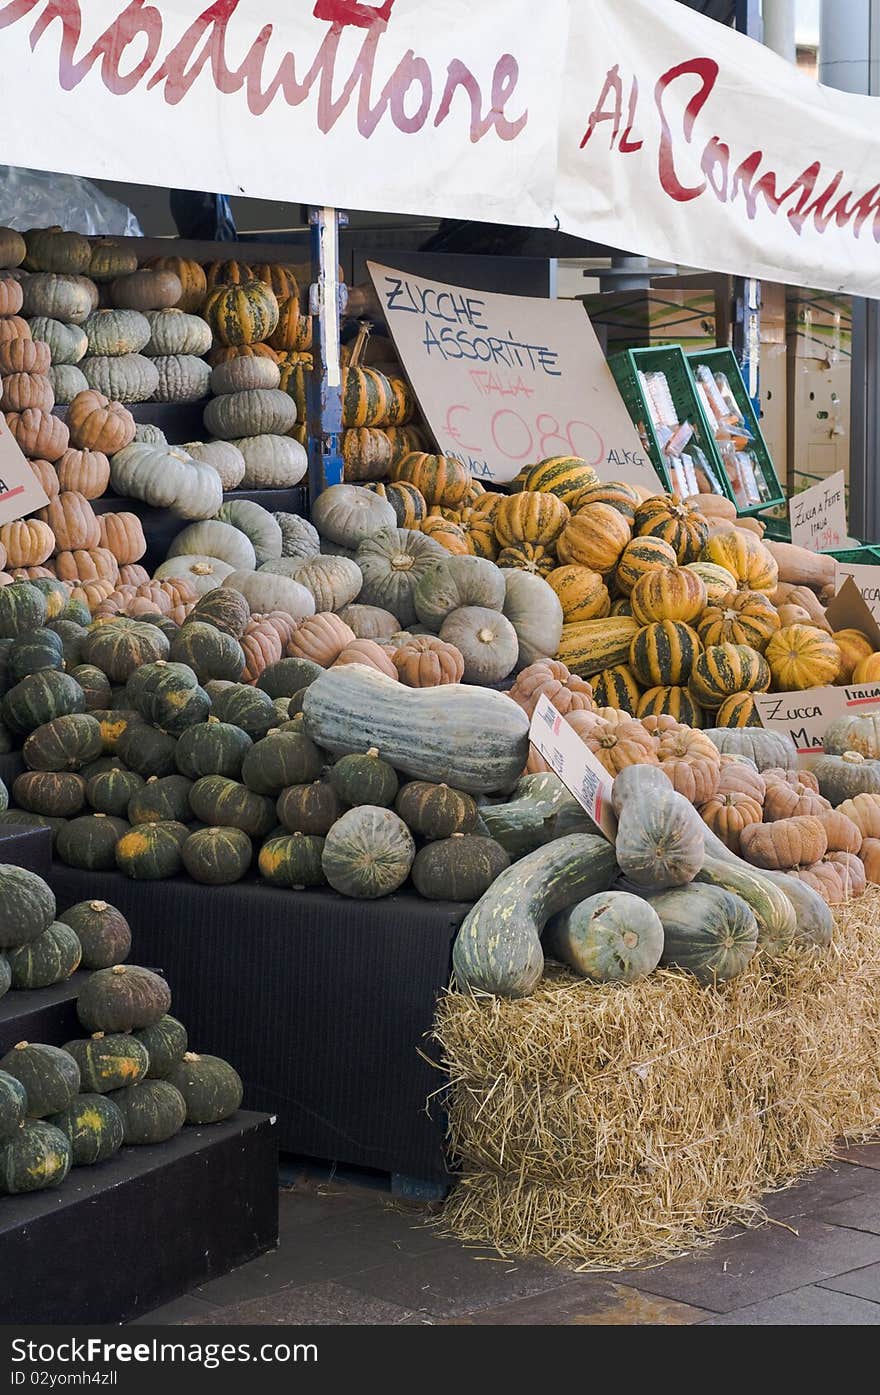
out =
{"type": "Polygon", "coordinates": [[[0,1197],[0,1322],[124,1322],[276,1244],[272,1120],[185,1127],[0,1197]]]}

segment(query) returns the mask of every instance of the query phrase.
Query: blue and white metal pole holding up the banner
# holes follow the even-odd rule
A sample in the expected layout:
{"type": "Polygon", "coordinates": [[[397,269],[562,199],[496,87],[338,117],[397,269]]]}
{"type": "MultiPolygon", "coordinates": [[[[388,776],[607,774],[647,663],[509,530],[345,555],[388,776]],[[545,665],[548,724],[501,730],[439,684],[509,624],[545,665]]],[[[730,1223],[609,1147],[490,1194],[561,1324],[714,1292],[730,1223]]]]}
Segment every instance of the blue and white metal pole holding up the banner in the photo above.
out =
{"type": "Polygon", "coordinates": [[[308,310],[312,315],[312,370],[308,378],[308,492],[315,499],[331,484],[342,484],[342,368],[339,315],[347,290],[339,280],[339,229],[346,215],[335,208],[311,208],[311,276],[308,310]]]}

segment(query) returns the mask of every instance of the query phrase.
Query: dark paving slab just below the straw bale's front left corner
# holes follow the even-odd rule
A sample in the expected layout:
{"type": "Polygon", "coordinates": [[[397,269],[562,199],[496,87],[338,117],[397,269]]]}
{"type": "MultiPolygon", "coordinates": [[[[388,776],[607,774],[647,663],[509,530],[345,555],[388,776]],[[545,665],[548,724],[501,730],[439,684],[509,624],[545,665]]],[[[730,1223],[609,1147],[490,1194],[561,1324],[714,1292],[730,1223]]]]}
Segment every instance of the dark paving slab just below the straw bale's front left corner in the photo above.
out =
{"type": "Polygon", "coordinates": [[[544,1260],[501,1260],[456,1246],[349,1275],[353,1288],[435,1317],[463,1317],[572,1282],[572,1271],[544,1260]]]}

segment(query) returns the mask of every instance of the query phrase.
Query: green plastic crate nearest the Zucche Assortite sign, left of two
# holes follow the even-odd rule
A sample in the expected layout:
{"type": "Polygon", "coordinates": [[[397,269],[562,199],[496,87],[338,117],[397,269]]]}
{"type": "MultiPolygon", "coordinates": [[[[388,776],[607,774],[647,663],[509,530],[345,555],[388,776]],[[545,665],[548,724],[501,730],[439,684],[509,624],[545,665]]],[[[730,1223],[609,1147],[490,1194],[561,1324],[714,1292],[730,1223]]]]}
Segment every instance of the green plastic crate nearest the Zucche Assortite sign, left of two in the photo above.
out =
{"type": "MultiPolygon", "coordinates": [[[[668,494],[676,492],[669,478],[662,448],[657,439],[651,413],[648,412],[648,405],[639,381],[639,372],[665,374],[678,420],[682,423],[689,421],[695,428],[693,439],[706,455],[710,469],[721,484],[721,492],[735,504],[729,480],[721,465],[718,448],[706,420],[703,405],[693,386],[693,375],[681,345],[662,345],[655,349],[626,349],[623,353],[612,354],[608,359],[608,365],[623,398],[623,405],[633,420],[633,425],[646,444],[651,465],[664,490],[668,494]]],[[[766,505],[763,506],[766,508],[766,505]]]]}

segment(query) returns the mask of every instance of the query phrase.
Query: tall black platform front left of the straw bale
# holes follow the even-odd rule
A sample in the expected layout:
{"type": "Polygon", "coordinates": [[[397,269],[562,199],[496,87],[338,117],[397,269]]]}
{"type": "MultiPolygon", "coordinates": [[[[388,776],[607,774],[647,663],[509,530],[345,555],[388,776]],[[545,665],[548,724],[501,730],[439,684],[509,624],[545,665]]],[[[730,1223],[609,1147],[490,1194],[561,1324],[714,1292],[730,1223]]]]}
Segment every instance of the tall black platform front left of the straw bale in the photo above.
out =
{"type": "Polygon", "coordinates": [[[131,922],[141,964],[172,985],[195,1050],[236,1063],[282,1151],[446,1179],[442,1074],[420,1055],[449,982],[460,903],[351,901],[257,882],[131,882],[53,865],[59,908],[86,896],[131,922]]]}

